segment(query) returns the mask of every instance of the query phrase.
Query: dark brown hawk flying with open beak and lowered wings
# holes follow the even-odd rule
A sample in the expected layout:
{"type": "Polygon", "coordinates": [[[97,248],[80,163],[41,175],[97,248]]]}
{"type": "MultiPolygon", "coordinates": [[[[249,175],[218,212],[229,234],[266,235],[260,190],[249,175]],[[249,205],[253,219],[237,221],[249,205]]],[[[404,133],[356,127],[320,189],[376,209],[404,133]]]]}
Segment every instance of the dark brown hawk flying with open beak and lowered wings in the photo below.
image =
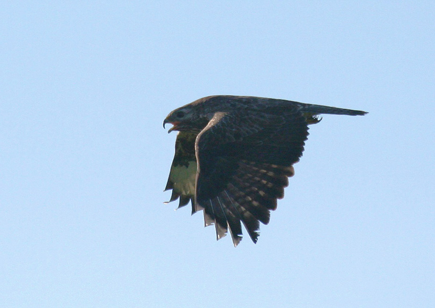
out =
{"type": "MultiPolygon", "coordinates": [[[[302,156],[308,125],[318,114],[367,112],[258,97],[210,96],[171,111],[163,122],[179,131],[165,191],[178,207],[204,210],[217,240],[229,228],[234,246],[244,224],[256,243],[259,222],[284,197],[293,164],[302,156]]],[[[168,203],[165,202],[165,203],[168,203]]]]}

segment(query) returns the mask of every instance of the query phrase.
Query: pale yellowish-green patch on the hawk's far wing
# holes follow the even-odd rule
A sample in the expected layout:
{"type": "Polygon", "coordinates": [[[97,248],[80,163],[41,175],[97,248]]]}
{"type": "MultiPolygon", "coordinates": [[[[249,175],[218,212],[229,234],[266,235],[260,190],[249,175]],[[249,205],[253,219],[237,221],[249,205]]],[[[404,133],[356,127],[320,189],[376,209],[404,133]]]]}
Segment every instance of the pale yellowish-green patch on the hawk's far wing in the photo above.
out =
{"type": "Polygon", "coordinates": [[[195,196],[195,177],[197,176],[197,162],[189,161],[188,167],[184,165],[172,166],[170,171],[170,180],[173,183],[173,189],[185,196],[195,196]]]}

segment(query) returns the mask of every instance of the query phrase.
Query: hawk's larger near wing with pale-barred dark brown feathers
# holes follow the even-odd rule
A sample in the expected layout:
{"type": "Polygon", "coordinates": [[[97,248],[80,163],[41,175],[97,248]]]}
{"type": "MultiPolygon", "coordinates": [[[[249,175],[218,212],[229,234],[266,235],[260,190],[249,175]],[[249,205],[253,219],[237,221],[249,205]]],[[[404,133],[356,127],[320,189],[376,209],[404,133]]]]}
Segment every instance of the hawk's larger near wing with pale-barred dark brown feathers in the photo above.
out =
{"type": "Polygon", "coordinates": [[[252,110],[217,112],[198,135],[195,208],[217,239],[229,227],[234,246],[242,240],[241,222],[256,243],[259,222],[284,197],[292,165],[302,155],[307,122],[297,107],[281,113],[252,110]]]}

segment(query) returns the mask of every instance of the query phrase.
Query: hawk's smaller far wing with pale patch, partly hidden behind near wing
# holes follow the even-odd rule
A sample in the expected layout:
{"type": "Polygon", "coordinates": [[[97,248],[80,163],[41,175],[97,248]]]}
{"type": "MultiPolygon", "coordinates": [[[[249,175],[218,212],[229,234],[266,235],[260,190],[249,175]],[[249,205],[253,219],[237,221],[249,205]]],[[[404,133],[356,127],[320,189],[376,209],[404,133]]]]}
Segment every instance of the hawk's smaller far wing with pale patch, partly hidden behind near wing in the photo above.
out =
{"type": "Polygon", "coordinates": [[[197,158],[195,157],[195,138],[197,134],[179,132],[175,141],[175,155],[173,157],[168,182],[165,191],[172,189],[168,202],[180,198],[178,208],[192,203],[194,212],[195,176],[197,174],[197,158]]]}

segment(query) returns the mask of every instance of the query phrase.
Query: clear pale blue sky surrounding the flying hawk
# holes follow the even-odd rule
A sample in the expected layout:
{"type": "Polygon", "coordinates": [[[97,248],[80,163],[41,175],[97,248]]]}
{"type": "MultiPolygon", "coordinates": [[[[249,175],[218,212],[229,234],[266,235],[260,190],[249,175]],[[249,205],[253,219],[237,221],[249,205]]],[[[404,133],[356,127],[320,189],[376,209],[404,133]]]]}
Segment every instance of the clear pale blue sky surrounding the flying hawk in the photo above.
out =
{"type": "MultiPolygon", "coordinates": [[[[0,306],[435,304],[431,1],[0,5],[0,306]],[[325,115],[258,243],[163,192],[173,109],[325,115]]],[[[244,232],[246,234],[246,232],[244,232]]]]}

